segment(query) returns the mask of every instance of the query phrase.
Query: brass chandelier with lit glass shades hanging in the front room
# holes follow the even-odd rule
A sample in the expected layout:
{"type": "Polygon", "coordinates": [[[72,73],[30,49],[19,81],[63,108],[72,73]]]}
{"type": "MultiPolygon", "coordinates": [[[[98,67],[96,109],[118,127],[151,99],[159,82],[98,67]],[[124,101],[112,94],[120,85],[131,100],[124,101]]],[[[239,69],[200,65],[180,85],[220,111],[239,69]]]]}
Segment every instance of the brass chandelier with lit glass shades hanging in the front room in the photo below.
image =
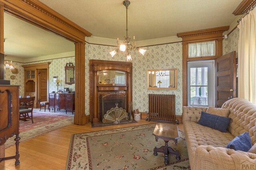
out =
{"type": "Polygon", "coordinates": [[[119,39],[117,38],[116,44],[117,44],[119,49],[111,51],[110,55],[112,57],[114,57],[116,52],[118,52],[120,50],[120,51],[126,52],[127,61],[132,61],[130,51],[138,50],[142,55],[144,55],[146,53],[146,50],[139,49],[138,47],[136,47],[135,36],[133,36],[133,41],[131,41],[130,36],[128,36],[128,17],[127,17],[127,14],[128,14],[128,6],[130,5],[130,1],[125,0],[123,2],[123,5],[126,7],[126,37],[124,37],[123,43],[119,43],[119,39]]]}

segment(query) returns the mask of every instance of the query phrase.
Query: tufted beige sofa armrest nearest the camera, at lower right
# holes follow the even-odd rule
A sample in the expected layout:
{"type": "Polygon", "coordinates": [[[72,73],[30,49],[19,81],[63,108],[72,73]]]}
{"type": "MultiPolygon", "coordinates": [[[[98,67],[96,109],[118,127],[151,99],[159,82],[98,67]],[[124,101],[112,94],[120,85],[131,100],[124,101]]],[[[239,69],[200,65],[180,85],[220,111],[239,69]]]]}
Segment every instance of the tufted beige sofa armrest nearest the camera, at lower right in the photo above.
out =
{"type": "Polygon", "coordinates": [[[256,154],[201,145],[195,150],[195,170],[256,169],[256,154]]]}

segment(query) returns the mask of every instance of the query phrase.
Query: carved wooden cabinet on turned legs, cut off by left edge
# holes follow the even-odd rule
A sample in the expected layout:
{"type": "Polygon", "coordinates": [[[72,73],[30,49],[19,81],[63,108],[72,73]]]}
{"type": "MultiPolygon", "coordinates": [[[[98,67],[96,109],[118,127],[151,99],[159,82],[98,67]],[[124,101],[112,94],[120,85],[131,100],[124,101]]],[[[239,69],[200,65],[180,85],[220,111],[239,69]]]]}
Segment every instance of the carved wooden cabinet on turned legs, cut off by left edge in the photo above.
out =
{"type": "Polygon", "coordinates": [[[16,155],[2,160],[16,159],[15,165],[19,161],[19,86],[0,85],[0,145],[4,145],[8,138],[15,137],[16,155]]]}

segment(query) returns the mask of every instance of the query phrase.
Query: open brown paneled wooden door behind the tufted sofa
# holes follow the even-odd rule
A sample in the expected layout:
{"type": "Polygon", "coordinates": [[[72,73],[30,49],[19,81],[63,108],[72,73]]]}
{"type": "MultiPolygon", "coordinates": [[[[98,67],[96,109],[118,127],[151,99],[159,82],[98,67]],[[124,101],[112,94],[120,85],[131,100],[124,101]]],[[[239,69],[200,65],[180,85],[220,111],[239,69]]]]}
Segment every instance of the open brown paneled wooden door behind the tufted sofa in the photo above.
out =
{"type": "Polygon", "coordinates": [[[236,97],[236,51],[215,59],[215,107],[236,97]]]}

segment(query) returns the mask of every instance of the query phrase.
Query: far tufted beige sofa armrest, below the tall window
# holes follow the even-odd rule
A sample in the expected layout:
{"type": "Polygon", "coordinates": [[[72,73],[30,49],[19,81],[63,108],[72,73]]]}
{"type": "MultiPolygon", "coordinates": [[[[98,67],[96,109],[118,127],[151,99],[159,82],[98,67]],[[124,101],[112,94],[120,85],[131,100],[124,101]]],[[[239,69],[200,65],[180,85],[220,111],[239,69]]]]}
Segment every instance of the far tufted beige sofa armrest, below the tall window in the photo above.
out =
{"type": "Polygon", "coordinates": [[[183,106],[182,116],[184,121],[198,122],[201,116],[201,111],[206,111],[208,107],[194,107],[194,106],[183,106]]]}

